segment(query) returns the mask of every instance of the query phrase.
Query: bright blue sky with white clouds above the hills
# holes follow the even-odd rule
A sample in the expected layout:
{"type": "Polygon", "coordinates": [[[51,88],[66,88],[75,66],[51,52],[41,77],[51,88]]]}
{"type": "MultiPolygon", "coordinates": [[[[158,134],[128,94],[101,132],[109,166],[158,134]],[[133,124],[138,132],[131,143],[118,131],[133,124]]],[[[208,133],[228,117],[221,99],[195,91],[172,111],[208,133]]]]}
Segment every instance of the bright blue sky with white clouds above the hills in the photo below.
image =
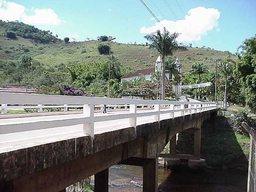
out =
{"type": "Polygon", "coordinates": [[[119,43],[145,43],[147,33],[164,26],[184,44],[232,53],[256,34],[255,0],[143,1],[160,23],[140,0],[0,0],[0,20],[19,20],[61,39],[107,35],[119,43]]]}

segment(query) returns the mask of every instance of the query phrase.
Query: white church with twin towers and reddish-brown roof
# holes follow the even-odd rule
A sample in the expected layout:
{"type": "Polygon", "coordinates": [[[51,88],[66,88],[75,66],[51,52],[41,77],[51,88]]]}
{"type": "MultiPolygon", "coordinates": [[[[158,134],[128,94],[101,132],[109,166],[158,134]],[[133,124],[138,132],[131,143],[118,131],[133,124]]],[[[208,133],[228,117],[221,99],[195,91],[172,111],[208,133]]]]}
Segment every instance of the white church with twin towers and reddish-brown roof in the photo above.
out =
{"type": "MultiPolygon", "coordinates": [[[[146,80],[150,80],[150,76],[151,76],[151,73],[154,73],[154,72],[161,72],[162,70],[162,57],[160,57],[160,55],[158,56],[158,58],[156,59],[156,64],[155,64],[155,67],[154,68],[147,68],[147,69],[140,69],[134,73],[130,73],[130,74],[127,74],[125,76],[122,76],[121,77],[121,83],[126,80],[126,81],[130,81],[130,80],[133,80],[133,79],[139,79],[141,75],[144,75],[144,78],[146,80]]],[[[181,95],[181,89],[180,89],[180,86],[181,83],[182,83],[182,73],[181,73],[181,69],[182,69],[182,64],[180,63],[180,61],[178,60],[178,57],[177,59],[175,60],[175,65],[176,65],[176,69],[178,70],[178,75],[180,76],[180,81],[178,82],[178,91],[177,91],[177,94],[181,95]]],[[[165,72],[165,76],[166,78],[169,79],[169,76],[170,76],[170,73],[169,71],[166,71],[165,72]]],[[[175,81],[175,77],[174,75],[172,74],[172,80],[175,81]]],[[[176,92],[176,84],[173,84],[172,85],[172,90],[173,92],[176,92]]]]}

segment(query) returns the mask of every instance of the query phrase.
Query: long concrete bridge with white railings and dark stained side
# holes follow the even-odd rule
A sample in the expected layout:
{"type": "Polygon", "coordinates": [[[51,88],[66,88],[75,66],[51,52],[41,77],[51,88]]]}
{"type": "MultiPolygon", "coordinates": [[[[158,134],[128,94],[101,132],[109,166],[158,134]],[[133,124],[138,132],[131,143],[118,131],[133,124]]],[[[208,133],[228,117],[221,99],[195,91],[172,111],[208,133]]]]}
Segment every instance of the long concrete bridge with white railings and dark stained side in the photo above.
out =
{"type": "Polygon", "coordinates": [[[118,163],[142,166],[143,191],[156,192],[158,156],[200,162],[201,128],[207,130],[216,113],[215,103],[199,101],[0,93],[0,103],[83,105],[82,114],[0,116],[0,192],[65,191],[93,174],[95,192],[107,192],[108,168],[118,163]],[[129,110],[99,114],[96,104],[129,110]],[[175,154],[182,131],[195,134],[194,155],[175,154]],[[169,140],[170,154],[161,154],[169,140]]]}

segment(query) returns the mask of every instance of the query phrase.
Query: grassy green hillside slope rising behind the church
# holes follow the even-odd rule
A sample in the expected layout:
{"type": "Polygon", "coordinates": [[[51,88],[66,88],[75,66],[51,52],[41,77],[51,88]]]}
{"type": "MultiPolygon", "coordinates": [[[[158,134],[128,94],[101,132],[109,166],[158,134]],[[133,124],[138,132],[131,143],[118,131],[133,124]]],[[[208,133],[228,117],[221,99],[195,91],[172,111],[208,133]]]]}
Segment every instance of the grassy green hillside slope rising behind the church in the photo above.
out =
{"type": "MultiPolygon", "coordinates": [[[[105,43],[105,42],[103,42],[105,43]]],[[[107,43],[107,42],[106,42],[107,43]]],[[[0,59],[19,60],[22,55],[28,54],[45,65],[52,66],[69,61],[94,62],[108,60],[108,55],[100,55],[97,50],[98,41],[70,42],[57,41],[53,44],[34,43],[29,39],[17,36],[17,39],[8,39],[5,29],[0,26],[0,59]]],[[[118,56],[124,68],[132,71],[142,68],[154,67],[157,53],[144,45],[112,43],[111,51],[118,56]]],[[[228,52],[213,49],[188,48],[186,52],[175,52],[183,65],[183,71],[189,71],[194,62],[222,60],[228,52]]],[[[232,57],[235,57],[233,55],[232,57]]],[[[212,68],[214,63],[208,62],[212,68]]]]}

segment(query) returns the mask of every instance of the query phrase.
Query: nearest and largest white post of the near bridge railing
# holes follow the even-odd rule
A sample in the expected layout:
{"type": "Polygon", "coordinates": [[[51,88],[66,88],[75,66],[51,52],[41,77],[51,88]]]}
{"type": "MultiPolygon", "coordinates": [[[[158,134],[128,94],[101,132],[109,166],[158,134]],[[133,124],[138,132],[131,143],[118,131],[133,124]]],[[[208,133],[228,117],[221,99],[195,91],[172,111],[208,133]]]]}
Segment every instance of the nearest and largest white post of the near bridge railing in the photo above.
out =
{"type": "Polygon", "coordinates": [[[83,116],[84,117],[90,117],[89,123],[83,124],[83,132],[84,134],[90,135],[92,138],[94,138],[94,122],[93,122],[93,116],[94,116],[94,105],[92,104],[86,104],[83,108],[83,116]]]}

